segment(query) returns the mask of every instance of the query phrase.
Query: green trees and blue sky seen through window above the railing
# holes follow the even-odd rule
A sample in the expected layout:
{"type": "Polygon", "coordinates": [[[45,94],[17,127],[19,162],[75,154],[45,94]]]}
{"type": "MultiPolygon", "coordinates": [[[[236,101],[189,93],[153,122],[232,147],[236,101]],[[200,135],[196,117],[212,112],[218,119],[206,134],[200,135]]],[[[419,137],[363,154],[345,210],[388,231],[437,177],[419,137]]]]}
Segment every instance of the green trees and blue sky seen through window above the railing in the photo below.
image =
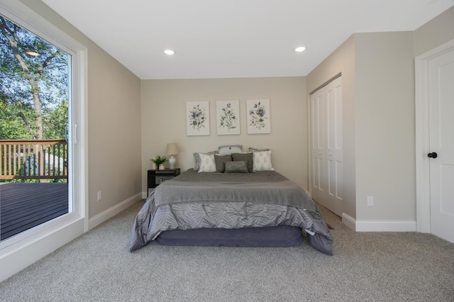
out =
{"type": "Polygon", "coordinates": [[[0,33],[0,139],[64,138],[69,55],[3,16],[0,33]]]}

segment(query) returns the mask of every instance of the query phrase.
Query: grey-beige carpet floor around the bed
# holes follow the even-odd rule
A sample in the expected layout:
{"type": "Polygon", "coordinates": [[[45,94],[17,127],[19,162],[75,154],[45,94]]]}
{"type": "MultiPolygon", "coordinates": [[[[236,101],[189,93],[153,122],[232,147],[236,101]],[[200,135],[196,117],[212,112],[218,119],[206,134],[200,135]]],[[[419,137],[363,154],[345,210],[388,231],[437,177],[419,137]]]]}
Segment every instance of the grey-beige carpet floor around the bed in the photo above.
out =
{"type": "MultiPolygon", "coordinates": [[[[334,228],[333,256],[299,247],[128,252],[140,205],[0,284],[0,301],[453,301],[454,245],[421,233],[334,228]]],[[[0,268],[1,269],[1,268],[0,268]]]]}

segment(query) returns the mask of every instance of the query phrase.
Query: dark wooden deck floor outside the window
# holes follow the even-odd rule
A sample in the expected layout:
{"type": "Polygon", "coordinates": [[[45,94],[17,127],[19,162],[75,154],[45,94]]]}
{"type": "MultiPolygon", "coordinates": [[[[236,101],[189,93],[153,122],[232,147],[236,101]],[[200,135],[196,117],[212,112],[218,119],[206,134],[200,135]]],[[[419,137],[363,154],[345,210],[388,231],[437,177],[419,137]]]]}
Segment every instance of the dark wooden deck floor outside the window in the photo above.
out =
{"type": "Polygon", "coordinates": [[[0,184],[0,240],[68,213],[67,183],[0,184]]]}

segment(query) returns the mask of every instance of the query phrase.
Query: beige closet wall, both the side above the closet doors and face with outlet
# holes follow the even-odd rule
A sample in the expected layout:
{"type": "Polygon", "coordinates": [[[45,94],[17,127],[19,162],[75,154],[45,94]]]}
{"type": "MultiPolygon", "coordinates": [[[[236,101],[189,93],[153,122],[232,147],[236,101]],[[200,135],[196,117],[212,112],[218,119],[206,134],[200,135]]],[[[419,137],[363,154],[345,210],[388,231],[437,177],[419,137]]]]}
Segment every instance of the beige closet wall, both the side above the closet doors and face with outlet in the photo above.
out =
{"type": "Polygon", "coordinates": [[[313,91],[342,73],[343,213],[356,220],[416,219],[413,58],[412,32],[358,33],[307,76],[313,91]]]}

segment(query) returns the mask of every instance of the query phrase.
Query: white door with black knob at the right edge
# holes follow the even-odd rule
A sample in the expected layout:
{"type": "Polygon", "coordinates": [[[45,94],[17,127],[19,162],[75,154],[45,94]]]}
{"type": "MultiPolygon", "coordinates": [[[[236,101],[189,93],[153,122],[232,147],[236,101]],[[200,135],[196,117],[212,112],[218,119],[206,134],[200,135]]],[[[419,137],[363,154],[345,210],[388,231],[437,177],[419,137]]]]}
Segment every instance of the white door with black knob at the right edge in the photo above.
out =
{"type": "Polygon", "coordinates": [[[454,242],[454,50],[428,62],[431,233],[454,242]]]}

